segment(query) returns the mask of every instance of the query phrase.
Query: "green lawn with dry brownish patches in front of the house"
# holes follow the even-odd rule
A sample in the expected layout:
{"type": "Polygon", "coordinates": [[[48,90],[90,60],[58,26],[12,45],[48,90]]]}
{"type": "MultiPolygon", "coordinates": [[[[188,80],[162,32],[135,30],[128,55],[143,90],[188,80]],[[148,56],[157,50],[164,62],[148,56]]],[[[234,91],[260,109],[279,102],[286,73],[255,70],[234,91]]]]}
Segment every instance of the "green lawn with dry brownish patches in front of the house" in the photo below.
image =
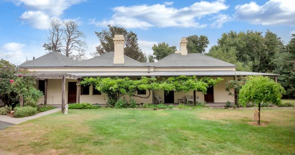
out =
{"type": "Polygon", "coordinates": [[[295,109],[69,110],[0,131],[0,153],[295,154],[295,109]]]}

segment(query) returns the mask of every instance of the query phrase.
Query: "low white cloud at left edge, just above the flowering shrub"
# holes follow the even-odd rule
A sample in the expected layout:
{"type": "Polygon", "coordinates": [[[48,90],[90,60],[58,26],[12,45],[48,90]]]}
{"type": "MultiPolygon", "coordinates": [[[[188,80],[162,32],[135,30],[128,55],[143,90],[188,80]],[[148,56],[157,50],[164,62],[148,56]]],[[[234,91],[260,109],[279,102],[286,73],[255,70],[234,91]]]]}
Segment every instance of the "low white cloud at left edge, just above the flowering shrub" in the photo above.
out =
{"type": "Polygon", "coordinates": [[[11,42],[4,44],[0,48],[0,58],[9,61],[10,63],[20,64],[21,60],[24,59],[25,55],[23,52],[23,47],[25,44],[20,44],[16,42],[11,42]]]}

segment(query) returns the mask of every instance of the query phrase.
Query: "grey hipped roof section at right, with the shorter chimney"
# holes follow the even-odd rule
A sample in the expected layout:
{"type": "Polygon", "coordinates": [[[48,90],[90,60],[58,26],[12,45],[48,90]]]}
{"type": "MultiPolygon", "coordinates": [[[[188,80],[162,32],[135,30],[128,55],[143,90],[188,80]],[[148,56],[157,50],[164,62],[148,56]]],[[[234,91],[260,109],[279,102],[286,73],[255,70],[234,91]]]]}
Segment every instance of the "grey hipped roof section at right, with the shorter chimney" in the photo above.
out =
{"type": "Polygon", "coordinates": [[[236,65],[209,57],[201,53],[171,54],[158,62],[155,67],[235,67],[236,65]]]}

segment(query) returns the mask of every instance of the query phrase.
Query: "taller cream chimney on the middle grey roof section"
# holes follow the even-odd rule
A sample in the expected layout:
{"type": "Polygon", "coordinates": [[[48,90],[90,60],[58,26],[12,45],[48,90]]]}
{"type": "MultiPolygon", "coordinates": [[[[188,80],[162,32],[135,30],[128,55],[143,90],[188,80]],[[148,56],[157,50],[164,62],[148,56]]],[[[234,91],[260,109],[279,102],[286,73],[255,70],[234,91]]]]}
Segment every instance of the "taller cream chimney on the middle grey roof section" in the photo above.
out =
{"type": "Polygon", "coordinates": [[[124,35],[115,34],[114,40],[114,63],[124,63],[124,35]]]}

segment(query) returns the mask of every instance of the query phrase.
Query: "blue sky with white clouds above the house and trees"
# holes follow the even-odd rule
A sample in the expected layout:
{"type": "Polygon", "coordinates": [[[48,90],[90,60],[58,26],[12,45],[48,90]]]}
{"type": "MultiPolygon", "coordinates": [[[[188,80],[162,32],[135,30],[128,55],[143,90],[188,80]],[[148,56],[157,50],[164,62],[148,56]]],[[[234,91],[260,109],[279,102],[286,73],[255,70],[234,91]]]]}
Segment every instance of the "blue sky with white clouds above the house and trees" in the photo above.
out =
{"type": "Polygon", "coordinates": [[[206,35],[217,44],[229,31],[273,31],[286,43],[295,33],[295,0],[0,0],[0,59],[16,65],[46,54],[51,19],[72,20],[86,35],[87,58],[99,40],[95,31],[112,24],[133,31],[140,48],[181,37],[206,35]]]}

